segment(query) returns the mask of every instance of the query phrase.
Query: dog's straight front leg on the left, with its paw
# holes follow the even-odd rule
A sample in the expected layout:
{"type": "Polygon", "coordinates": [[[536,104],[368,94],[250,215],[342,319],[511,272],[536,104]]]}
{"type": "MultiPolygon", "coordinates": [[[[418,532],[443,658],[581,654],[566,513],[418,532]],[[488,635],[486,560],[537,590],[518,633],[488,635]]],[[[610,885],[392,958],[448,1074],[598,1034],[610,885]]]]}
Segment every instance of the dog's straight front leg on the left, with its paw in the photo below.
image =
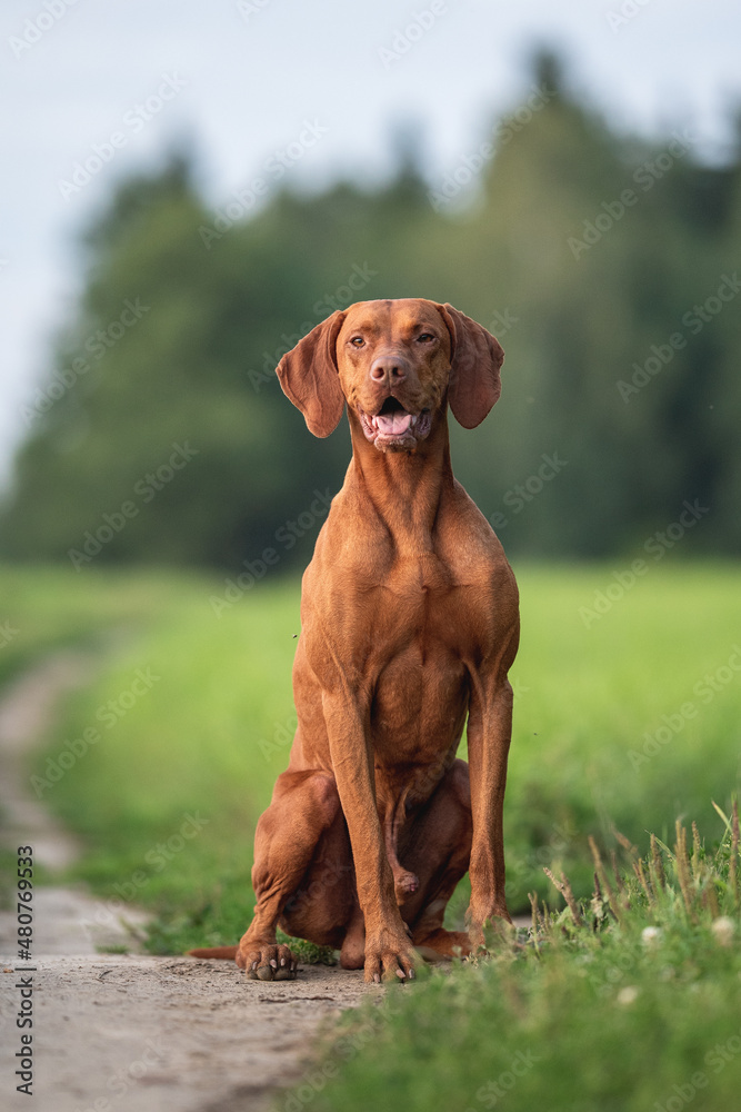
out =
{"type": "Polygon", "coordinates": [[[419,957],[397,905],[378,816],[369,708],[359,706],[347,692],[324,693],[322,708],[366,921],[366,981],[411,979],[419,957]]]}

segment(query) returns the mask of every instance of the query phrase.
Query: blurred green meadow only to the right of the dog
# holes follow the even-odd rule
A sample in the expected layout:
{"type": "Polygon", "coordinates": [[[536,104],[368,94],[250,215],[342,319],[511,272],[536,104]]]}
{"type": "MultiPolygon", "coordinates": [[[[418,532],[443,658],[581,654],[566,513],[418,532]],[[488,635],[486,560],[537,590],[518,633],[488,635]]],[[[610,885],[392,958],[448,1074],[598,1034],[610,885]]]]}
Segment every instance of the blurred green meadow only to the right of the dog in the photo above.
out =
{"type": "MultiPolygon", "coordinates": [[[[710,801],[728,811],[741,777],[741,671],[728,666],[741,646],[741,577],[737,567],[654,566],[589,628],[579,610],[615,583],[610,567],[525,567],[518,578],[505,845],[508,893],[521,906],[543,864],[563,864],[588,887],[587,836],[607,844],[613,823],[639,846],[647,831],[669,835],[677,816],[720,836],[710,801]]],[[[542,873],[538,887],[547,891],[542,873]]]]}

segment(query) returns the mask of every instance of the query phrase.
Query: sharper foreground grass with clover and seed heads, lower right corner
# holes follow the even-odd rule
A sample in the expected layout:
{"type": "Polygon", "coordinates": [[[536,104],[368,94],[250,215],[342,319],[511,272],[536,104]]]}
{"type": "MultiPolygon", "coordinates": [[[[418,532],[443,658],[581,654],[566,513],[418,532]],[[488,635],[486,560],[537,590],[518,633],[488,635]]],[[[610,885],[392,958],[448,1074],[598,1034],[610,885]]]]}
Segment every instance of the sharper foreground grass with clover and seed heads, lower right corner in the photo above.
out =
{"type": "Polygon", "coordinates": [[[547,914],[537,946],[534,932],[502,932],[489,960],[389,987],[380,1007],[368,1001],[346,1016],[302,1085],[276,1106],[738,1108],[741,923],[730,851],[730,834],[708,853],[657,848],[664,878],[649,861],[644,884],[631,867],[635,854],[617,876],[602,865],[600,893],[578,909],[580,926],[569,911],[547,914]]]}

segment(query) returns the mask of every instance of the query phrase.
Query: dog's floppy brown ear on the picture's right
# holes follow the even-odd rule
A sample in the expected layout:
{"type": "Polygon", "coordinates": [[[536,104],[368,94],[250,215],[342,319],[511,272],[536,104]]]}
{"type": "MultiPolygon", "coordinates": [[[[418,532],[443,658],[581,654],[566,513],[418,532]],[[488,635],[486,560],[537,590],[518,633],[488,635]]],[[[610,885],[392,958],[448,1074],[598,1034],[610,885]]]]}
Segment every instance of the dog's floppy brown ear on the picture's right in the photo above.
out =
{"type": "Polygon", "coordinates": [[[491,332],[464,312],[447,302],[437,308],[450,332],[448,401],[459,425],[475,428],[501,394],[504,353],[491,332]]]}

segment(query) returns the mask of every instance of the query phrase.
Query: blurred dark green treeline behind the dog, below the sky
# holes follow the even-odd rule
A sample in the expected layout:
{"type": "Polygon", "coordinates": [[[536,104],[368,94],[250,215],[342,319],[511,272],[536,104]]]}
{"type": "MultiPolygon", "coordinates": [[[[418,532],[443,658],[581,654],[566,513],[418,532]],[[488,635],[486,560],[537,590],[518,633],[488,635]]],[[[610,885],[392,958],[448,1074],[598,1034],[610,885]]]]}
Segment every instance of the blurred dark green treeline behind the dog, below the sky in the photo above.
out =
{"type": "Polygon", "coordinates": [[[453,460],[509,553],[640,555],[660,533],[738,555],[741,167],[702,165],[697,140],[615,135],[541,59],[439,180],[407,158],[382,189],[217,211],[187,158],[129,181],[22,414],[2,554],[81,573],[306,560],[349,437],[316,440],[276,364],[338,306],[421,296],[505,349],[502,399],[453,428],[453,460]]]}

